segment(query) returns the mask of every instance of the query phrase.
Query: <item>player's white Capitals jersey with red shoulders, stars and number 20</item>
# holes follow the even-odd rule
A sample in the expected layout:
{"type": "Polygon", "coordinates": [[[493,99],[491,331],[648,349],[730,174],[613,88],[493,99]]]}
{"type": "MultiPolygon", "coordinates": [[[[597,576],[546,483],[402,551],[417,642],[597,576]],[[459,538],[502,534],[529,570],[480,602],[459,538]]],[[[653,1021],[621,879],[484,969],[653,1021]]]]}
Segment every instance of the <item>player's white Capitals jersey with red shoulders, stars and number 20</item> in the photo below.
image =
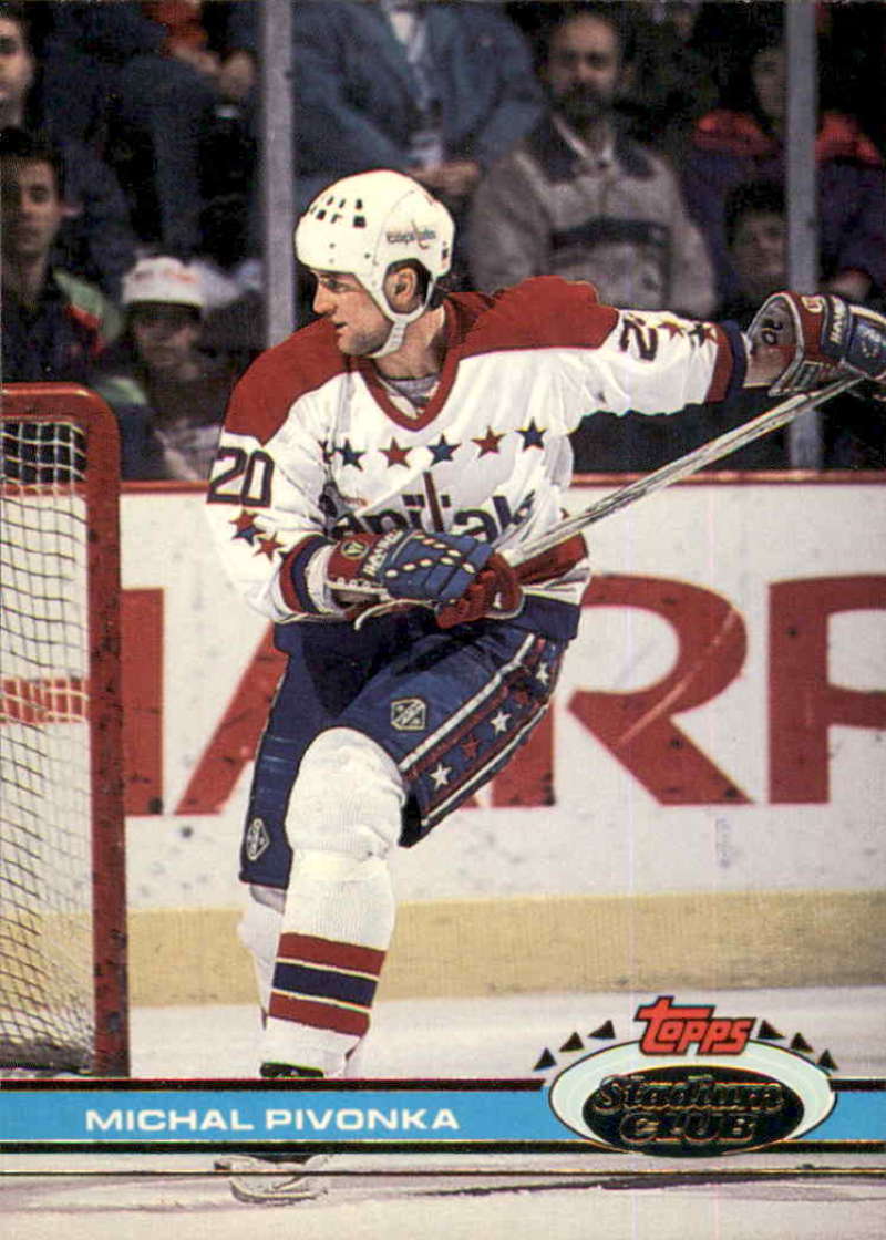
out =
{"type": "MultiPolygon", "coordinates": [[[[445,360],[417,412],[319,321],[263,353],[232,394],[208,489],[226,567],[277,622],[340,615],[315,552],[352,531],[468,533],[499,549],[546,532],[571,480],[567,439],[597,409],[722,399],[743,356],[714,324],[614,310],[540,277],[445,300],[445,360]]],[[[587,565],[534,594],[578,603],[587,565]]]]}

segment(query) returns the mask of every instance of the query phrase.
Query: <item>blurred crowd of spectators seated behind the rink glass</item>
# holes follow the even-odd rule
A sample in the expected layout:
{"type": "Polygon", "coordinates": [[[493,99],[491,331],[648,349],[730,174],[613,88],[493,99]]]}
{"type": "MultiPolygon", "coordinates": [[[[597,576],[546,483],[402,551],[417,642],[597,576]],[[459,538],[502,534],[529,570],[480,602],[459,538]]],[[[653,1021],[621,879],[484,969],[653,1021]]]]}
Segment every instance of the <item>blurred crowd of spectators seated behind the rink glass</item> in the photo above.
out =
{"type": "MultiPolygon", "coordinates": [[[[293,7],[298,210],[393,167],[454,213],[457,285],[562,274],[742,326],[784,285],[783,4],[293,7]]],[[[261,347],[258,12],[0,0],[2,377],[99,391],[129,479],[204,477],[261,347]]],[[[817,12],[820,286],[882,308],[886,12],[817,12]]],[[[654,467],[750,412],[598,415],[577,466],[654,467]]],[[[826,428],[825,464],[884,467],[851,423],[826,428]]],[[[728,464],[784,467],[784,436],[728,464]]]]}

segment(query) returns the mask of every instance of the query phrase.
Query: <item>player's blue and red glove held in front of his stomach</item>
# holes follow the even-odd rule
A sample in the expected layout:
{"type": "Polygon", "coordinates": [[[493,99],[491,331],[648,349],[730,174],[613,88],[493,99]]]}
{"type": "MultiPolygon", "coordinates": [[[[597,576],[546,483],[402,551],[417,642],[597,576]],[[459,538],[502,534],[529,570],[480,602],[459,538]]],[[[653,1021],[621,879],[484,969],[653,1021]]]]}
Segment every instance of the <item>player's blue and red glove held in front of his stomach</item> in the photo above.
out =
{"type": "Polygon", "coordinates": [[[478,582],[491,556],[488,543],[468,534],[424,529],[349,534],[335,546],[326,578],[336,591],[445,605],[478,582]]]}

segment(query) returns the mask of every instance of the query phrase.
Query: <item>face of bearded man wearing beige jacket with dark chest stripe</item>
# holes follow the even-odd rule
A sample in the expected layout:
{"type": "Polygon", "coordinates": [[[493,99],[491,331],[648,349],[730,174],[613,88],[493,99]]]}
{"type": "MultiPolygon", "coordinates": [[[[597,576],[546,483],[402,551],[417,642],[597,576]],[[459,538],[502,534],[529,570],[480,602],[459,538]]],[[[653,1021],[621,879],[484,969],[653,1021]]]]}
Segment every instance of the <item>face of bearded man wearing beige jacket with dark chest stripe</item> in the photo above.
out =
{"type": "Polygon", "coordinates": [[[555,31],[545,78],[567,120],[587,124],[612,107],[620,67],[618,37],[609,22],[591,15],[555,31]]]}

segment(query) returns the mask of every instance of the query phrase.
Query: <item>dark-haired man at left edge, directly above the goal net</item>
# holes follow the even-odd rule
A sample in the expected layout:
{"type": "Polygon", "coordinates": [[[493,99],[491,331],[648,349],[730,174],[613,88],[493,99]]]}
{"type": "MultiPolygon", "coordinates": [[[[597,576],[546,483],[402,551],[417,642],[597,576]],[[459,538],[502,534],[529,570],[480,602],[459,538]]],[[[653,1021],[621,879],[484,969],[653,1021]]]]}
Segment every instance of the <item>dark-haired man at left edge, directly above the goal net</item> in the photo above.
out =
{"type": "Polygon", "coordinates": [[[51,265],[66,212],[58,151],[4,129],[0,203],[4,381],[84,383],[119,315],[99,289],[51,265]]]}

